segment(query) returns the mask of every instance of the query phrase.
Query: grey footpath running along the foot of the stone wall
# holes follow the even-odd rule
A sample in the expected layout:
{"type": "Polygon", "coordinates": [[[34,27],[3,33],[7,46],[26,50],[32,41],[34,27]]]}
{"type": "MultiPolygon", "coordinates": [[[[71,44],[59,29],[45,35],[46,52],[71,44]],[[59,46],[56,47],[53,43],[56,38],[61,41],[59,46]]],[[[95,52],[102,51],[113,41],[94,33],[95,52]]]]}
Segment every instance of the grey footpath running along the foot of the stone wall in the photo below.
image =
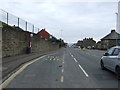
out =
{"type": "Polygon", "coordinates": [[[31,61],[35,58],[41,57],[43,55],[54,53],[58,50],[3,58],[2,59],[2,81],[6,80],[12,73],[18,70],[20,66],[22,66],[24,63],[31,61]]]}

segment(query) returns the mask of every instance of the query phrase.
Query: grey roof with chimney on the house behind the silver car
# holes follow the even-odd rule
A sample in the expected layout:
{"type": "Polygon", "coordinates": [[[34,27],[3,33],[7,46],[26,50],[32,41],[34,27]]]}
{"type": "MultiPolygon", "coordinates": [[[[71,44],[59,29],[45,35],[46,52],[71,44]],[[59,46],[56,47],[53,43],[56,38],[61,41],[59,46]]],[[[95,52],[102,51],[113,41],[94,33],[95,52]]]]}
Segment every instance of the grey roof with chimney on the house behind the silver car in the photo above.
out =
{"type": "Polygon", "coordinates": [[[111,33],[103,37],[101,40],[114,40],[120,39],[120,34],[117,33],[115,30],[111,30],[111,33]]]}

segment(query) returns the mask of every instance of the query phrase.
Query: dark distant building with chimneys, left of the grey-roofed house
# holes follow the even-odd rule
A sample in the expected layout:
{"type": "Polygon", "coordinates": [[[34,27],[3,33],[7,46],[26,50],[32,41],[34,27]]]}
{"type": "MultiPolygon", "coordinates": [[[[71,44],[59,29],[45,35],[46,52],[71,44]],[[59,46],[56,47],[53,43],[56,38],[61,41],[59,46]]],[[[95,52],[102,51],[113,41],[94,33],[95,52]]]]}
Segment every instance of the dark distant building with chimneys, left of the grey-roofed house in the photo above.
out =
{"type": "Polygon", "coordinates": [[[83,40],[79,40],[76,44],[77,46],[80,46],[81,48],[94,48],[96,45],[96,41],[93,40],[93,38],[85,38],[83,40]]]}

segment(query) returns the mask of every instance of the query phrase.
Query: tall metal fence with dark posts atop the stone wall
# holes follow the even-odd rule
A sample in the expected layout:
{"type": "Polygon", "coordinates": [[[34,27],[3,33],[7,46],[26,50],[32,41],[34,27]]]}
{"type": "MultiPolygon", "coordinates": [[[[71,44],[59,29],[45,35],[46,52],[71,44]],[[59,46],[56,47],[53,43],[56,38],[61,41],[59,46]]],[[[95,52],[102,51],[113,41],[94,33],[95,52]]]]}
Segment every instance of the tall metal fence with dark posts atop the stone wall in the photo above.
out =
{"type": "Polygon", "coordinates": [[[32,33],[37,33],[39,32],[39,28],[35,27],[34,24],[31,24],[17,16],[14,16],[2,9],[0,9],[0,21],[10,25],[10,26],[16,26],[24,31],[29,31],[32,33]]]}

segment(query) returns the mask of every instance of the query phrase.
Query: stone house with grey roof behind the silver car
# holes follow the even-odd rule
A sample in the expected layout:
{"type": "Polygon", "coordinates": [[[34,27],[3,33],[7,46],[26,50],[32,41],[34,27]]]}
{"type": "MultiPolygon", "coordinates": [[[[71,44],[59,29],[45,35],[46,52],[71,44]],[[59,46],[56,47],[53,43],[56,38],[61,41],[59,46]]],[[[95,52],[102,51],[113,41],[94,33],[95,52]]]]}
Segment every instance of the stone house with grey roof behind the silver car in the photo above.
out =
{"type": "Polygon", "coordinates": [[[120,45],[120,34],[115,30],[101,39],[101,49],[109,49],[113,46],[120,45]]]}

